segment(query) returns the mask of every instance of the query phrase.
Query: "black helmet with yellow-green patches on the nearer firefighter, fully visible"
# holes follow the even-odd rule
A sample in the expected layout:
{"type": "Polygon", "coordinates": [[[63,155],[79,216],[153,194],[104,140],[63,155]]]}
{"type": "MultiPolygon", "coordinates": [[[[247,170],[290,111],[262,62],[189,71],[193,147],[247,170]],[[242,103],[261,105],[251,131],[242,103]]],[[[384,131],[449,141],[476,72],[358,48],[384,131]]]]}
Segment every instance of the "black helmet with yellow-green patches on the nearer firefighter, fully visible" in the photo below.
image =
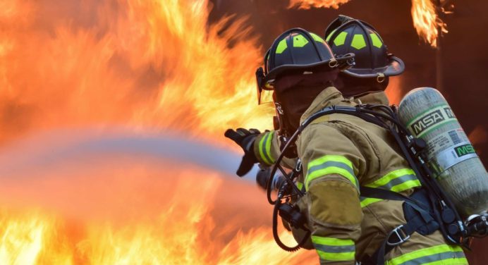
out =
{"type": "Polygon", "coordinates": [[[316,35],[295,27],[277,37],[264,56],[264,70],[256,71],[258,101],[263,90],[273,90],[274,81],[281,75],[328,71],[347,68],[353,64],[354,54],[334,57],[329,45],[316,35]]]}

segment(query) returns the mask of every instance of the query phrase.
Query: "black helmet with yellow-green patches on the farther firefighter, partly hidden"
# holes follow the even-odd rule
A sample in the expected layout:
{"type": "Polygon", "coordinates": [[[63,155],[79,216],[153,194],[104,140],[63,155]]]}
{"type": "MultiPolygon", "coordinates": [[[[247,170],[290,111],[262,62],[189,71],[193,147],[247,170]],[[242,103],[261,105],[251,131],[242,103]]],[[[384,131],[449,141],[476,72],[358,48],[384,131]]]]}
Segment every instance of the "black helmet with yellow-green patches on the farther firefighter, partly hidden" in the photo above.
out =
{"type": "Polygon", "coordinates": [[[389,54],[377,30],[362,20],[340,15],[325,30],[325,39],[334,54],[355,54],[355,65],[343,70],[350,77],[383,82],[405,70],[403,61],[389,54]]]}

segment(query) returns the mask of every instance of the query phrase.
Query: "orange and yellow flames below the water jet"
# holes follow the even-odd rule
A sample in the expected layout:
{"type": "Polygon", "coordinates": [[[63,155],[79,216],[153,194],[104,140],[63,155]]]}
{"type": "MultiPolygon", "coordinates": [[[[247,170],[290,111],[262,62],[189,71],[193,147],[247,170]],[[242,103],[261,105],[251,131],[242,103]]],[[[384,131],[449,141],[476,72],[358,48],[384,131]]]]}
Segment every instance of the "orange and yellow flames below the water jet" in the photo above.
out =
{"type": "MultiPolygon", "coordinates": [[[[30,146],[15,148],[35,152],[30,146]]],[[[63,154],[67,158],[53,164],[24,162],[20,166],[28,168],[0,178],[2,264],[317,260],[314,252],[286,254],[275,245],[268,223],[271,207],[254,185],[185,161],[161,163],[147,154],[63,154]]],[[[2,157],[2,173],[15,162],[2,157]]],[[[293,240],[289,233],[281,237],[288,244],[293,240]]]]}

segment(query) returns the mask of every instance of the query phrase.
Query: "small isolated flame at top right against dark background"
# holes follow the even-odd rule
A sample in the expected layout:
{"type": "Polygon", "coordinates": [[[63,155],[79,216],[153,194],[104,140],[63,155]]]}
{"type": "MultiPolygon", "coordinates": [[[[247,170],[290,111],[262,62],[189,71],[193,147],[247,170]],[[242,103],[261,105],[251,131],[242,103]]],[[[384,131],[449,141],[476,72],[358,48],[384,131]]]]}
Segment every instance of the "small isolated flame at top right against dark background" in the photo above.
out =
{"type": "Polygon", "coordinates": [[[432,47],[437,47],[439,33],[447,33],[447,29],[432,0],[412,0],[412,18],[417,34],[432,47]]]}

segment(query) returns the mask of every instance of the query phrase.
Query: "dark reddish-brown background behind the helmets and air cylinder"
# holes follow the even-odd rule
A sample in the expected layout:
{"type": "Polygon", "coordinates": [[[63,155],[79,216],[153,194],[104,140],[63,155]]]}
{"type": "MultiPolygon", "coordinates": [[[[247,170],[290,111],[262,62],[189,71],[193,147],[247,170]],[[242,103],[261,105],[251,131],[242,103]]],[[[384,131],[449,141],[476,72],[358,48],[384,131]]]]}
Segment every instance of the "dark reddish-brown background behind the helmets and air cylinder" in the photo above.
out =
{"type": "MultiPolygon", "coordinates": [[[[249,16],[256,35],[260,36],[263,54],[281,32],[303,27],[323,35],[325,28],[344,14],[374,25],[389,51],[405,61],[401,78],[402,94],[415,87],[437,87],[436,50],[422,42],[413,27],[411,2],[387,0],[352,0],[334,9],[287,9],[285,0],[214,0],[211,21],[224,15],[249,16]]],[[[449,101],[465,132],[470,135],[484,165],[488,161],[488,1],[451,1],[454,13],[444,16],[449,33],[441,40],[441,92],[449,101]]],[[[254,70],[255,66],[250,66],[254,70]]],[[[476,241],[470,255],[471,264],[486,264],[488,240],[476,241]]]]}

